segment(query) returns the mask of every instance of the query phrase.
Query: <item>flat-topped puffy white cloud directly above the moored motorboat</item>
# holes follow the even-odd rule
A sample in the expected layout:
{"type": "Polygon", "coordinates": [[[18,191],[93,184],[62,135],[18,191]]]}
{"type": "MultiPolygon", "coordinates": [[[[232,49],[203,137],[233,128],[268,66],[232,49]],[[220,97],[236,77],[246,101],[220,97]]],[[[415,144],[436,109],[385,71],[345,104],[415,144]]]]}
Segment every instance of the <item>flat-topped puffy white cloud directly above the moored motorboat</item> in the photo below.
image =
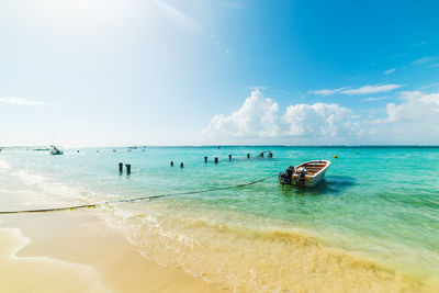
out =
{"type": "Polygon", "coordinates": [[[352,111],[338,104],[295,104],[286,108],[282,121],[286,136],[346,136],[357,133],[352,111]]]}

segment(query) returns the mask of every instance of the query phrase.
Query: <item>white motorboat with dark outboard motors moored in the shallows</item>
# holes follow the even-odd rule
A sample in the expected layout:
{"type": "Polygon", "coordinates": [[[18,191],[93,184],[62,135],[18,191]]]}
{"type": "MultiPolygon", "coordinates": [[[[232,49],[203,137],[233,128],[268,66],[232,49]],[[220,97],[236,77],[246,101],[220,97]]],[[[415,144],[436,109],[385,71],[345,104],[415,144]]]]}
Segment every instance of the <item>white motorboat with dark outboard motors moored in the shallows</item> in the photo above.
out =
{"type": "Polygon", "coordinates": [[[292,168],[290,167],[285,172],[279,174],[279,182],[313,188],[323,180],[329,165],[329,160],[312,160],[302,162],[296,168],[291,166],[292,168]]]}

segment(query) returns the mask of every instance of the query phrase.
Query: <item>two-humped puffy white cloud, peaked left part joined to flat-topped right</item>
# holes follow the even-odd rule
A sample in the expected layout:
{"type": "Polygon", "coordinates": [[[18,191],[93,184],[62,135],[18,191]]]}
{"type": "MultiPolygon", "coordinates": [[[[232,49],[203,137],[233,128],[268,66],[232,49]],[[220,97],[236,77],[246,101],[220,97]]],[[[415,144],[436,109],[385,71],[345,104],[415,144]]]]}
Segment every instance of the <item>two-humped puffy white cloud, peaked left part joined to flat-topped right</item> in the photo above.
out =
{"type": "Polygon", "coordinates": [[[335,137],[358,134],[352,112],[338,104],[294,104],[278,119],[279,105],[251,92],[240,109],[230,115],[215,115],[204,134],[210,138],[335,137]]]}

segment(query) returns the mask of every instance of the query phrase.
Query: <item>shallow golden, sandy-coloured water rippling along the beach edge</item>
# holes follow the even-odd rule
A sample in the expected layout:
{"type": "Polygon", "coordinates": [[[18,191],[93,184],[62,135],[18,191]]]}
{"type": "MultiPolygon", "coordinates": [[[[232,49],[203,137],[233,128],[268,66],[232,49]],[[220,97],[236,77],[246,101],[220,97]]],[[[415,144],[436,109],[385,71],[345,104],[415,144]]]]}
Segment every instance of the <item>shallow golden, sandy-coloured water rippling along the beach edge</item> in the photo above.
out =
{"type": "Polygon", "coordinates": [[[328,247],[300,229],[222,221],[215,214],[166,212],[165,206],[151,203],[133,211],[115,206],[119,212],[106,216],[143,256],[235,292],[428,292],[436,288],[328,247]]]}

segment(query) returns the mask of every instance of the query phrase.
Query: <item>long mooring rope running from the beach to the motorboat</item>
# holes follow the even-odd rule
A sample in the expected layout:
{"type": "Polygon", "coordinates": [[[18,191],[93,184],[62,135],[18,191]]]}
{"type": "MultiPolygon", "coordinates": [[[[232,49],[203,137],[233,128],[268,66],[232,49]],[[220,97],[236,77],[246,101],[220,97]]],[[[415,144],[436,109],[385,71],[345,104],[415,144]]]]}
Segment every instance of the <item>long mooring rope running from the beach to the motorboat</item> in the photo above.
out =
{"type": "Polygon", "coordinates": [[[128,199],[128,200],[120,200],[120,201],[114,201],[114,202],[101,202],[101,203],[82,204],[82,205],[74,205],[74,206],[65,206],[65,207],[38,209],[38,210],[21,210],[21,211],[2,211],[2,212],[0,212],[0,215],[4,215],[4,214],[22,214],[22,213],[46,213],[46,212],[58,212],[58,211],[79,210],[79,209],[91,209],[91,207],[97,207],[98,205],[104,205],[104,204],[111,204],[111,203],[138,202],[138,201],[155,200],[155,199],[177,196],[177,195],[189,195],[189,194],[198,194],[198,193],[205,193],[205,192],[227,190],[227,189],[238,189],[238,188],[244,188],[244,187],[248,187],[248,185],[252,185],[252,184],[266,181],[266,180],[268,180],[268,179],[270,179],[273,176],[270,176],[270,177],[266,177],[266,178],[262,178],[262,179],[249,182],[249,183],[243,183],[243,184],[237,184],[237,185],[232,185],[232,187],[224,187],[224,188],[214,188],[214,189],[203,189],[203,190],[196,190],[196,191],[157,194],[157,195],[133,198],[133,199],[128,199]]]}

